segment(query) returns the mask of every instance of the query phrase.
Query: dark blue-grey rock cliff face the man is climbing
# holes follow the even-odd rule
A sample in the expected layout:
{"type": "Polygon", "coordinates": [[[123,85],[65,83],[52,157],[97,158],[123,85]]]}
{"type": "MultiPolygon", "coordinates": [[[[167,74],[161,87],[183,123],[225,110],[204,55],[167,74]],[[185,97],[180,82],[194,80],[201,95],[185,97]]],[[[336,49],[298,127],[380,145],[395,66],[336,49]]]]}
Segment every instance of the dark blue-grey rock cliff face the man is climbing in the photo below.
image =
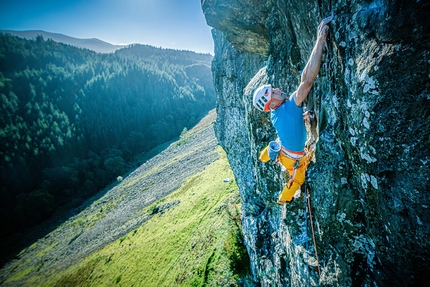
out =
{"type": "Polygon", "coordinates": [[[202,8],[215,28],[216,134],[240,188],[255,285],[428,284],[429,1],[202,0],[202,8]],[[295,91],[332,12],[306,103],[316,112],[306,183],[316,252],[303,188],[277,206],[283,171],[257,160],[276,134],[252,92],[262,83],[295,91]]]}

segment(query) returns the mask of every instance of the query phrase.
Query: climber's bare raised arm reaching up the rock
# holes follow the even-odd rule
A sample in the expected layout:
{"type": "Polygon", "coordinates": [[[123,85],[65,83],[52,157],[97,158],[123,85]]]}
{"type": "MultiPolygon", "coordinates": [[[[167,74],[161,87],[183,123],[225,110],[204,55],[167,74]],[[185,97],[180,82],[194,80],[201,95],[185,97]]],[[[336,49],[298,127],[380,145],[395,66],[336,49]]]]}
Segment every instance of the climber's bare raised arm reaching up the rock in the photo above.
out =
{"type": "Polygon", "coordinates": [[[302,72],[302,77],[300,81],[300,85],[297,88],[296,96],[294,97],[294,101],[298,107],[301,106],[302,102],[306,99],[309,94],[309,91],[314,84],[314,81],[318,75],[321,66],[321,56],[322,49],[328,34],[328,26],[327,24],[333,19],[333,16],[327,17],[321,21],[321,24],[318,26],[318,37],[317,42],[315,43],[314,48],[312,49],[311,57],[307,62],[305,68],[302,72]]]}

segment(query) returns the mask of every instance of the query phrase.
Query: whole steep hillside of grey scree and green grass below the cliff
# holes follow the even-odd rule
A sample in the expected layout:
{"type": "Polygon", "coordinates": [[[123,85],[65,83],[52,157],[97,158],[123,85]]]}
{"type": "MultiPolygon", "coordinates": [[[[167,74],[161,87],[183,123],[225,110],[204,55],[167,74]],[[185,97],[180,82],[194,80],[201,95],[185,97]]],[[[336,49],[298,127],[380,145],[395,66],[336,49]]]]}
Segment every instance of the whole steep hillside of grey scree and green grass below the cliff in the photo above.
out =
{"type": "Polygon", "coordinates": [[[70,218],[35,230],[38,237],[1,269],[2,286],[237,284],[246,272],[237,266],[246,262],[240,198],[234,180],[225,181],[233,174],[214,119],[211,112],[160,146],[70,218]]]}

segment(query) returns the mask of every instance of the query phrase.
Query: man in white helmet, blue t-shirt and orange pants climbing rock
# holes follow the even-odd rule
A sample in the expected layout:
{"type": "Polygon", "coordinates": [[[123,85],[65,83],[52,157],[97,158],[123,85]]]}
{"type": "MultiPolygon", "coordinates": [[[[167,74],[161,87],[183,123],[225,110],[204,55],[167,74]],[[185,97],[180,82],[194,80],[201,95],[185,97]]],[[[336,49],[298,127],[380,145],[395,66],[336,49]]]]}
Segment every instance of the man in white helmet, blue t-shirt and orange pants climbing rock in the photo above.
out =
{"type": "MultiPolygon", "coordinates": [[[[277,204],[291,202],[294,194],[305,181],[306,172],[306,128],[303,118],[303,101],[318,75],[321,66],[323,45],[328,34],[328,23],[333,15],[325,18],[318,26],[317,42],[303,69],[300,85],[290,97],[278,88],[263,85],[254,92],[253,104],[260,111],[271,112],[271,121],[280,141],[281,151],[277,160],[288,170],[290,180],[279,195],[277,204]]],[[[260,161],[267,162],[269,146],[260,153],[260,161]]]]}

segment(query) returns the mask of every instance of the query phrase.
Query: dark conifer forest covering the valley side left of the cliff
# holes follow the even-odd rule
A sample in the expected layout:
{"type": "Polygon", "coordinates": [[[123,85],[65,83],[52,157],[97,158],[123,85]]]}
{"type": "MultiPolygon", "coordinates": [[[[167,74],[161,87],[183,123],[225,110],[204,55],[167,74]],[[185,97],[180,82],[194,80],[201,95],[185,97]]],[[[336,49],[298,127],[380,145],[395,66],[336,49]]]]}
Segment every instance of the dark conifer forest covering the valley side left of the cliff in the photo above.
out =
{"type": "Polygon", "coordinates": [[[76,207],[215,107],[210,54],[0,34],[0,236],[76,207]]]}

